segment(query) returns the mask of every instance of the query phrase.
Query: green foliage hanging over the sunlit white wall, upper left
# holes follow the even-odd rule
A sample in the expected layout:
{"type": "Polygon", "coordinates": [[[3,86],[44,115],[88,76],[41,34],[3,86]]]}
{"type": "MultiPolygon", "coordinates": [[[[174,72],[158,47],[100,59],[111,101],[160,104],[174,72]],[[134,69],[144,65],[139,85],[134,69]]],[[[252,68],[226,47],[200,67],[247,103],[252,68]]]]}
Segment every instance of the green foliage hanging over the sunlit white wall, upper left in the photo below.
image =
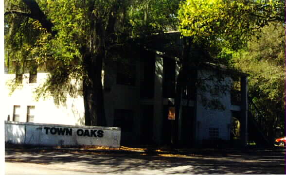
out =
{"type": "MultiPolygon", "coordinates": [[[[10,0],[9,2],[10,5],[5,11],[17,10],[29,13],[22,1],[10,0]]],[[[42,85],[45,88],[37,89],[38,94],[51,92],[54,93],[54,97],[63,97],[63,90],[59,89],[71,88],[71,84],[68,83],[71,82],[71,78],[82,77],[82,55],[79,52],[79,43],[86,43],[82,39],[86,36],[82,32],[86,27],[83,25],[84,13],[81,8],[75,8],[78,5],[76,1],[40,0],[37,2],[40,8],[47,13],[48,18],[53,21],[53,30],[58,31],[57,35],[52,36],[34,18],[17,14],[7,15],[5,16],[7,28],[5,50],[8,51],[10,60],[18,62],[21,67],[28,66],[27,62],[32,59],[36,61],[36,67],[50,72],[51,77],[56,77],[54,80],[48,78],[47,82],[42,85]]],[[[11,85],[11,87],[16,86],[17,84],[11,85]]],[[[14,89],[12,88],[12,92],[14,89]]]]}

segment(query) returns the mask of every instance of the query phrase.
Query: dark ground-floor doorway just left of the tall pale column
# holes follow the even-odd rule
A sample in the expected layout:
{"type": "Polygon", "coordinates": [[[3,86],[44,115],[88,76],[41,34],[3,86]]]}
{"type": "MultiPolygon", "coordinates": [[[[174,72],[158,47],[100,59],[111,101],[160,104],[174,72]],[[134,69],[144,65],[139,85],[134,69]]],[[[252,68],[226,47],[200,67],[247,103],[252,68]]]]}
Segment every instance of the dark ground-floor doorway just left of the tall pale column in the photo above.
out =
{"type": "Polygon", "coordinates": [[[141,143],[153,143],[153,105],[141,105],[141,143]]]}

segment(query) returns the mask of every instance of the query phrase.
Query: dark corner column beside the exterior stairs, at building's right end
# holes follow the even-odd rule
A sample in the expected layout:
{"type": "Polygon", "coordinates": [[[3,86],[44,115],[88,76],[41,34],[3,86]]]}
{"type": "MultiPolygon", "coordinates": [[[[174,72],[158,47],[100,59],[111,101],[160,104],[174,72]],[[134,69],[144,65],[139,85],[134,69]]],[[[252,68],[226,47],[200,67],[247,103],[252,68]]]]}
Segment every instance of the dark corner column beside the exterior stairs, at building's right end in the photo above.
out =
{"type": "Polygon", "coordinates": [[[248,141],[248,82],[247,77],[240,78],[241,87],[241,143],[247,145],[248,141]]]}

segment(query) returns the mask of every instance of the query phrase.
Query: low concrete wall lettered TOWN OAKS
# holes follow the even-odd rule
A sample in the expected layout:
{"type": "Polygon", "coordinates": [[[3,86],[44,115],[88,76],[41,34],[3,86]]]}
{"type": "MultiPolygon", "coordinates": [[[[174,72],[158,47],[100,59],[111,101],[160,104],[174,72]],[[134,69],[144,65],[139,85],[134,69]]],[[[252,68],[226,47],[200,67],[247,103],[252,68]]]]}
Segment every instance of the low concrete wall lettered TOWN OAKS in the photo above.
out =
{"type": "Polygon", "coordinates": [[[120,128],[5,121],[5,142],[43,146],[120,147],[120,128]]]}

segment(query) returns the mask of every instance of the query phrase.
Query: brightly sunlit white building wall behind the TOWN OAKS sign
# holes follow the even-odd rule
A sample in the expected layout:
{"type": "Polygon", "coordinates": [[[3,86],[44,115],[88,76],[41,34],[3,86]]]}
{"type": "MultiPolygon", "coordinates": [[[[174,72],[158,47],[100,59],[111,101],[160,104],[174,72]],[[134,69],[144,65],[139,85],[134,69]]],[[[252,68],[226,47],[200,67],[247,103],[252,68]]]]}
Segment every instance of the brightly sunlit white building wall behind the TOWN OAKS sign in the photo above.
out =
{"type": "MultiPolygon", "coordinates": [[[[5,96],[1,100],[5,102],[5,120],[10,115],[10,121],[12,121],[13,107],[14,105],[20,105],[19,122],[27,122],[27,106],[34,105],[35,123],[84,125],[84,102],[80,93],[75,98],[68,95],[66,103],[61,105],[55,105],[53,97],[35,100],[33,91],[45,81],[46,77],[47,73],[37,73],[37,83],[29,84],[29,74],[24,74],[22,87],[16,89],[11,96],[9,96],[9,86],[4,88],[5,96]]],[[[4,74],[5,82],[9,82],[14,78],[15,74],[4,74]]]]}

